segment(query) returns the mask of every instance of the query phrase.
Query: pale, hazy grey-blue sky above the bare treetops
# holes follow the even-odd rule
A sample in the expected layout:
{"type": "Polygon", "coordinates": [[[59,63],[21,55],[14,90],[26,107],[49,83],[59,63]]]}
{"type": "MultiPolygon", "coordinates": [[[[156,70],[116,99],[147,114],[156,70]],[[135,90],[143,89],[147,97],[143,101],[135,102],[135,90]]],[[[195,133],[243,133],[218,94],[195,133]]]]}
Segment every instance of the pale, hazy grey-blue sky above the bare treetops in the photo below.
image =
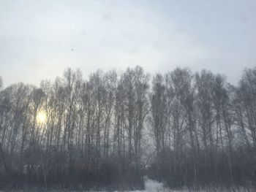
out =
{"type": "Polygon", "coordinates": [[[256,66],[255,0],[0,0],[0,76],[39,85],[67,67],[170,72],[236,84],[256,66]]]}

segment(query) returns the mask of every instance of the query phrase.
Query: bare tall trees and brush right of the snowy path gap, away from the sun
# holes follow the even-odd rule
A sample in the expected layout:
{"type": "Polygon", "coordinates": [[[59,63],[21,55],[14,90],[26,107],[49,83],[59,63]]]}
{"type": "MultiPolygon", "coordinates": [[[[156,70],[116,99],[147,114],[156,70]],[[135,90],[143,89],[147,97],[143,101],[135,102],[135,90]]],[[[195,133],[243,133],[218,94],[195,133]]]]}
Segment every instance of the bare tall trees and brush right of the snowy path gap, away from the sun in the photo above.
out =
{"type": "Polygon", "coordinates": [[[150,94],[154,177],[172,187],[255,183],[256,68],[237,87],[221,74],[175,69],[157,74],[150,94]]]}

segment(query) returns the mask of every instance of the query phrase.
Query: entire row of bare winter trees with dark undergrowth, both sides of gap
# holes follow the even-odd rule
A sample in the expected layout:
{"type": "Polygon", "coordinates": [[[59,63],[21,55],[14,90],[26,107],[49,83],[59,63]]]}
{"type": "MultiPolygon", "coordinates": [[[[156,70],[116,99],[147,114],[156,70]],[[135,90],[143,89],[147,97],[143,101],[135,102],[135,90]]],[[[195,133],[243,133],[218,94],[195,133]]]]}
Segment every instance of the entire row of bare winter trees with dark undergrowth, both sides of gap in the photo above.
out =
{"type": "MultiPolygon", "coordinates": [[[[32,75],[32,74],[31,74],[32,75]]],[[[39,87],[0,78],[0,189],[256,185],[256,67],[225,75],[66,69],[39,87]]]]}

